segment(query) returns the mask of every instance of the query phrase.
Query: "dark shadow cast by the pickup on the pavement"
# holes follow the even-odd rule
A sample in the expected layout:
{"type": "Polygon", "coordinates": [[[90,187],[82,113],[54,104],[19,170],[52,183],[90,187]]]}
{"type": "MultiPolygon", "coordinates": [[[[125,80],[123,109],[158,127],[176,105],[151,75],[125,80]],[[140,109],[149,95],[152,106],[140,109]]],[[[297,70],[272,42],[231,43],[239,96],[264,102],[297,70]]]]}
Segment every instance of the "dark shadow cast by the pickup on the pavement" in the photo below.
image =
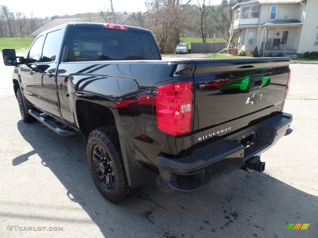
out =
{"type": "Polygon", "coordinates": [[[69,199],[83,208],[105,237],[278,238],[318,234],[318,197],[266,173],[237,170],[191,194],[171,191],[156,179],[126,202],[114,205],[95,188],[81,135],[58,136],[39,122],[26,126],[21,120],[17,129],[33,151],[14,158],[13,166],[38,154],[42,165],[67,189],[69,199]],[[289,223],[310,225],[307,230],[286,230],[289,223]]]}

